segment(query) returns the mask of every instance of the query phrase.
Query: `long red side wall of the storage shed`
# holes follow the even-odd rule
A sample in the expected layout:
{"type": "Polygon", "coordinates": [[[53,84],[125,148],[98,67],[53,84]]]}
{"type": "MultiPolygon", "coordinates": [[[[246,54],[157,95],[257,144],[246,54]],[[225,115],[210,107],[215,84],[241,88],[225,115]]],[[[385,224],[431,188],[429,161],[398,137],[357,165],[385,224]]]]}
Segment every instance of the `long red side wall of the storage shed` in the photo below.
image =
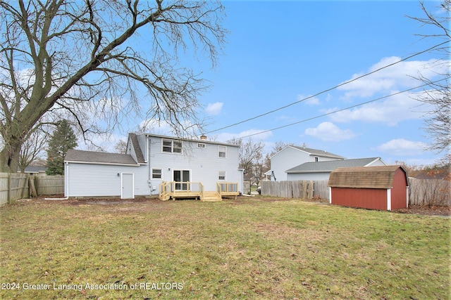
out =
{"type": "Polygon", "coordinates": [[[387,209],[387,190],[385,189],[332,188],[331,193],[332,204],[335,205],[342,205],[345,207],[362,207],[365,209],[387,209]]]}

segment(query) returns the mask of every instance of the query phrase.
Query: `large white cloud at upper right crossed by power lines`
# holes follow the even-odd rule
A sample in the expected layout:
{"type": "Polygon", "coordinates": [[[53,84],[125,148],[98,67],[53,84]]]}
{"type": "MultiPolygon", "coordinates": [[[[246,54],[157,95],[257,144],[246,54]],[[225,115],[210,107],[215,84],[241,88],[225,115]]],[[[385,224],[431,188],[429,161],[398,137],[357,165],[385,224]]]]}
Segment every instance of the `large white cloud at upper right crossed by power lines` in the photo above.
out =
{"type": "MultiPolygon", "coordinates": [[[[396,56],[382,58],[381,61],[372,65],[365,73],[373,72],[399,60],[401,58],[396,56]]],[[[450,60],[436,59],[403,61],[340,86],[338,90],[346,91],[342,98],[350,99],[353,97],[370,97],[378,92],[389,93],[394,90],[409,89],[421,84],[420,81],[415,79],[419,77],[419,74],[428,79],[433,79],[438,74],[446,74],[450,67],[450,62],[450,60]]],[[[351,79],[360,77],[363,74],[354,74],[351,79]]]]}

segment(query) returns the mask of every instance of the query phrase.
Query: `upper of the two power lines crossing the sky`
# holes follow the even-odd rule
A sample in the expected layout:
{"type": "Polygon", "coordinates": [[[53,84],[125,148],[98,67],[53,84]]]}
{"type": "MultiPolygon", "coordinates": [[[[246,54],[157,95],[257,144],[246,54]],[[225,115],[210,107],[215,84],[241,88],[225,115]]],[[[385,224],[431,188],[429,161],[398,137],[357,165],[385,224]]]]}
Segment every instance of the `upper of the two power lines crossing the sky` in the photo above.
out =
{"type": "Polygon", "coordinates": [[[420,51],[420,52],[417,52],[417,53],[412,54],[411,56],[407,56],[406,58],[402,58],[401,60],[398,60],[398,61],[395,62],[395,63],[390,63],[390,64],[388,64],[388,65],[385,65],[384,67],[378,68],[377,70],[374,70],[374,71],[372,71],[372,72],[363,74],[363,75],[361,75],[361,76],[359,76],[359,77],[356,77],[356,78],[354,78],[354,79],[351,79],[351,80],[345,81],[345,82],[343,82],[343,83],[341,83],[341,84],[338,84],[338,85],[336,85],[336,86],[333,86],[333,87],[331,87],[330,89],[326,89],[326,90],[320,91],[319,93],[316,93],[316,94],[314,94],[314,95],[311,95],[311,96],[302,98],[301,100],[297,100],[297,101],[292,102],[292,103],[290,103],[290,104],[288,104],[288,105],[284,105],[284,106],[278,107],[278,108],[276,108],[275,110],[270,110],[270,111],[268,111],[268,112],[264,112],[264,113],[261,114],[261,115],[257,115],[257,116],[255,116],[255,117],[251,117],[251,118],[249,118],[249,119],[245,119],[245,120],[242,120],[242,121],[240,121],[240,122],[236,122],[236,123],[230,124],[230,125],[228,125],[228,126],[223,126],[223,127],[221,127],[221,128],[218,128],[218,129],[215,129],[215,130],[212,130],[212,131],[205,132],[205,133],[203,133],[203,134],[209,134],[209,133],[212,133],[212,132],[220,131],[220,130],[222,130],[222,129],[227,129],[227,128],[230,128],[230,127],[233,127],[233,126],[236,126],[236,125],[245,123],[245,122],[252,121],[253,119],[258,119],[259,117],[263,117],[263,116],[272,114],[273,112],[277,112],[278,110],[283,110],[283,109],[285,109],[285,108],[287,108],[287,107],[290,107],[290,106],[292,106],[292,105],[295,105],[295,104],[297,104],[297,103],[301,103],[301,102],[304,101],[304,100],[308,100],[308,99],[310,99],[310,98],[314,98],[314,97],[319,96],[319,95],[321,95],[321,94],[323,94],[323,93],[326,93],[326,92],[328,92],[328,91],[332,91],[333,89],[337,89],[338,87],[344,86],[345,84],[350,84],[352,81],[356,81],[356,80],[361,79],[361,78],[363,78],[363,77],[369,76],[369,75],[371,75],[371,74],[373,74],[373,73],[376,73],[376,72],[378,72],[378,71],[381,71],[381,70],[385,69],[386,67],[391,67],[392,65],[396,65],[397,63],[401,63],[402,61],[408,60],[409,58],[413,58],[414,56],[419,56],[419,55],[422,54],[422,53],[431,51],[433,48],[436,48],[436,47],[438,47],[438,46],[442,46],[443,44],[447,44],[447,43],[448,43],[448,41],[444,41],[443,43],[440,43],[440,44],[437,44],[437,45],[435,45],[435,46],[432,46],[431,48],[427,48],[427,49],[424,50],[424,51],[420,51]]]}

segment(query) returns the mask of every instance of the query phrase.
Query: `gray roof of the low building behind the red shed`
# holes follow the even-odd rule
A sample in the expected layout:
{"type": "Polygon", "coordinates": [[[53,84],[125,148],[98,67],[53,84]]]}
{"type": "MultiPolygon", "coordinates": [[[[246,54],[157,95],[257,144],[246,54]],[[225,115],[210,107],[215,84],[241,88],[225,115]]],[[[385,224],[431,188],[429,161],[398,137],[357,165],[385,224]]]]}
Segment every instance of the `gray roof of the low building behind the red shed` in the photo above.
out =
{"type": "Polygon", "coordinates": [[[331,172],[340,167],[366,167],[369,164],[376,162],[377,160],[382,161],[381,157],[368,157],[357,159],[328,160],[326,162],[304,162],[304,164],[299,164],[299,166],[288,169],[286,172],[287,173],[331,172]]]}

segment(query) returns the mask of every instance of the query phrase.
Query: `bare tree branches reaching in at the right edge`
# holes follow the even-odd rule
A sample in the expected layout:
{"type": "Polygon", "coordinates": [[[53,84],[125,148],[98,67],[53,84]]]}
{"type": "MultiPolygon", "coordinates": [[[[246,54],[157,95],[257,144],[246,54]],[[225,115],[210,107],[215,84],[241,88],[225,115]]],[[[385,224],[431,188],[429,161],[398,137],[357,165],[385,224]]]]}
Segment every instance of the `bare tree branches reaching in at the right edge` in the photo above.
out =
{"type": "MultiPolygon", "coordinates": [[[[425,15],[424,18],[414,18],[423,25],[433,26],[438,31],[435,34],[420,35],[422,38],[444,39],[451,40],[451,0],[445,0],[438,7],[441,15],[434,15],[430,13],[424,6],[424,2],[420,2],[421,9],[425,15]]],[[[445,152],[445,159],[443,161],[450,161],[450,141],[451,141],[451,90],[450,90],[450,47],[449,43],[444,44],[443,47],[435,48],[433,51],[443,59],[435,60],[435,64],[445,64],[444,74],[440,74],[442,81],[431,81],[421,74],[417,79],[427,84],[428,88],[424,93],[419,94],[417,100],[425,103],[431,110],[427,112],[425,124],[426,132],[430,133],[431,143],[427,150],[433,150],[441,153],[445,152]]]]}

